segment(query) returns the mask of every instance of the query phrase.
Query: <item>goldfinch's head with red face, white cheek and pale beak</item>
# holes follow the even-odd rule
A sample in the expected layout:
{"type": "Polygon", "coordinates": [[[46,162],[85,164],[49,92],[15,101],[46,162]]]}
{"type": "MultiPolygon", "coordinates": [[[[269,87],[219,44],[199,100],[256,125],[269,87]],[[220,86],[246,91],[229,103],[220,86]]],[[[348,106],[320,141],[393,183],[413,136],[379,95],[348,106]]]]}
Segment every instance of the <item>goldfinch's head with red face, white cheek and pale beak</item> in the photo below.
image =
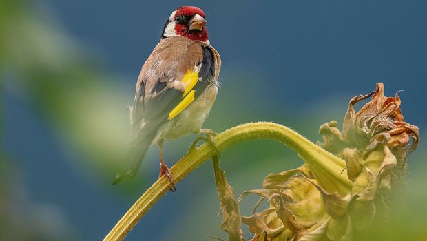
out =
{"type": "Polygon", "coordinates": [[[182,6],[167,19],[162,38],[185,36],[191,40],[209,43],[205,25],[205,13],[200,8],[182,6]]]}

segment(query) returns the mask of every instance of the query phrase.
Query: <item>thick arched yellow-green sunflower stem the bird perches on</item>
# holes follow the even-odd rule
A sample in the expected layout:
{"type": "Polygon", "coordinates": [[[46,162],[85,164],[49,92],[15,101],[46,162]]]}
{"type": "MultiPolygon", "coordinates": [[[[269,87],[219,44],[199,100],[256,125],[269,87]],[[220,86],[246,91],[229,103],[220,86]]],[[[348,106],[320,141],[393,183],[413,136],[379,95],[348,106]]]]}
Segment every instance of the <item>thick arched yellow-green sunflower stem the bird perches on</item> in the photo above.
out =
{"type": "MultiPolygon", "coordinates": [[[[223,151],[237,143],[247,140],[269,139],[283,143],[295,152],[309,165],[317,182],[326,191],[344,195],[351,189],[352,182],[348,180],[344,160],[318,147],[297,132],[276,123],[258,122],[238,125],[221,132],[213,138],[218,151],[223,151]]],[[[179,182],[191,171],[200,166],[216,154],[216,149],[210,143],[205,143],[198,148],[190,149],[171,168],[175,182],[179,182]]],[[[105,237],[104,240],[123,240],[143,215],[156,203],[156,201],[171,188],[171,183],[165,176],[159,178],[152,187],[149,187],[134,205],[125,213],[105,237]]]]}

